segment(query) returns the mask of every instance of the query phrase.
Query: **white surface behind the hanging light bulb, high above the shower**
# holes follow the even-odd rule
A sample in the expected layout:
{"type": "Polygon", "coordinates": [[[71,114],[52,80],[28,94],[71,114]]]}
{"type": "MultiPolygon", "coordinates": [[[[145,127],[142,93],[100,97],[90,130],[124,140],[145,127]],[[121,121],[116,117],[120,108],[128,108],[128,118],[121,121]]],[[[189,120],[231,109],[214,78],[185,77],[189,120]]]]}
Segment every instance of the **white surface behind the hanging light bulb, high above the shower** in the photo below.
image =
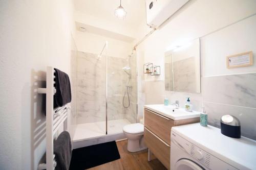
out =
{"type": "Polygon", "coordinates": [[[119,0],[74,0],[75,10],[95,17],[99,17],[114,23],[130,25],[135,29],[145,20],[145,0],[122,0],[122,6],[127,12],[124,20],[114,15],[119,6],[119,0]]]}

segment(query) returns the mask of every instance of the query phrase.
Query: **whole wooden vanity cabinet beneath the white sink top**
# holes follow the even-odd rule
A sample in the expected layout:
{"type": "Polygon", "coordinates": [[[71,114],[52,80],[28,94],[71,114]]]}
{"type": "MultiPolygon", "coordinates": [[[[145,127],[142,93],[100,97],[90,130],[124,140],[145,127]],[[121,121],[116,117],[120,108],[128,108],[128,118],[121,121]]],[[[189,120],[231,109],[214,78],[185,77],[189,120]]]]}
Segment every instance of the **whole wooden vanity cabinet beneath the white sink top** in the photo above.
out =
{"type": "MultiPolygon", "coordinates": [[[[170,169],[170,130],[173,126],[198,123],[199,117],[173,120],[156,112],[144,109],[144,140],[152,152],[170,169]]],[[[148,154],[150,154],[148,152],[148,154]]]]}

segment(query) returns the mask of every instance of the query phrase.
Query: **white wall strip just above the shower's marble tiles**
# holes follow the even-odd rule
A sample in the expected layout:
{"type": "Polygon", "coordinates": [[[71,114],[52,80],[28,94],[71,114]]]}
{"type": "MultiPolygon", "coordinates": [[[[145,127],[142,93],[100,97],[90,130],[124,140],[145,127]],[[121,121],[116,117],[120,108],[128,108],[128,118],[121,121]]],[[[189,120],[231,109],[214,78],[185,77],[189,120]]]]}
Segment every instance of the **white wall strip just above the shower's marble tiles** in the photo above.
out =
{"type": "Polygon", "coordinates": [[[80,52],[100,54],[105,41],[108,41],[106,51],[108,56],[127,58],[132,53],[132,43],[129,42],[80,31],[77,31],[75,36],[77,49],[80,52]]]}

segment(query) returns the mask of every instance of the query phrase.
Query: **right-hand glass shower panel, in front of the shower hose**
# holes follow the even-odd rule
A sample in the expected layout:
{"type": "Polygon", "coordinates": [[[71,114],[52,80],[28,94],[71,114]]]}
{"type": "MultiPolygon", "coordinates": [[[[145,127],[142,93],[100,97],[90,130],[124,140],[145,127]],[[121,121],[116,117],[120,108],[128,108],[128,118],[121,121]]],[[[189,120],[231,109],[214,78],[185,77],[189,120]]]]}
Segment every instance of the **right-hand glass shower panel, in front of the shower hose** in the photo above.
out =
{"type": "Polygon", "coordinates": [[[122,133],[125,125],[136,123],[136,55],[107,57],[107,129],[122,133]]]}

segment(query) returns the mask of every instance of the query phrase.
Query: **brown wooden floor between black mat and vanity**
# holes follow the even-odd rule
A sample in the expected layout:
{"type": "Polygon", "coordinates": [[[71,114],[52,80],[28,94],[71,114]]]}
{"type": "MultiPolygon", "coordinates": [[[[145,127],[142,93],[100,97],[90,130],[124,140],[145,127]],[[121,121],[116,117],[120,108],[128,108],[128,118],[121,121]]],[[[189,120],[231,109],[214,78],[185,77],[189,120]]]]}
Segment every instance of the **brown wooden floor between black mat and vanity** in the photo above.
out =
{"type": "Polygon", "coordinates": [[[127,151],[127,140],[118,141],[117,148],[121,159],[105,163],[96,167],[90,168],[91,170],[107,169],[166,169],[164,165],[156,159],[152,154],[151,161],[147,161],[147,150],[131,153],[127,151]]]}

